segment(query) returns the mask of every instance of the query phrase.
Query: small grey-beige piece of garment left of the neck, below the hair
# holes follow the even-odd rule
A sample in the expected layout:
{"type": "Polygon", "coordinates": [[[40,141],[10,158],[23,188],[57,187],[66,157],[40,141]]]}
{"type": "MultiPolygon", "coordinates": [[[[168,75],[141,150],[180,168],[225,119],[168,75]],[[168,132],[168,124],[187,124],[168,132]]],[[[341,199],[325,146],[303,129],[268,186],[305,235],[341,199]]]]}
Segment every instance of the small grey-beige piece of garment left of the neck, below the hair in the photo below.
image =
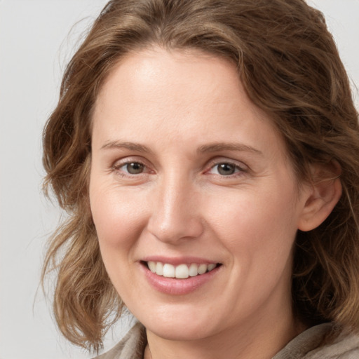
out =
{"type": "Polygon", "coordinates": [[[114,348],[93,359],[142,359],[146,343],[144,327],[136,323],[114,348]]]}

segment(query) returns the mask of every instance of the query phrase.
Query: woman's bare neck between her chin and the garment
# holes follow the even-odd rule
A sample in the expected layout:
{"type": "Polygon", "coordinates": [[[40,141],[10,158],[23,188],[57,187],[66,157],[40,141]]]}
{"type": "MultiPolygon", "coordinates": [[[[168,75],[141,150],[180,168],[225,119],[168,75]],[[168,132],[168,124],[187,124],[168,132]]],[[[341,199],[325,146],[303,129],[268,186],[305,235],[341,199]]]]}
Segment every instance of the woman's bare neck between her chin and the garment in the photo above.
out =
{"type": "Polygon", "coordinates": [[[228,328],[225,332],[193,341],[173,341],[147,330],[144,359],[269,359],[305,329],[294,320],[272,318],[228,328]],[[266,324],[264,324],[266,323],[266,324]]]}

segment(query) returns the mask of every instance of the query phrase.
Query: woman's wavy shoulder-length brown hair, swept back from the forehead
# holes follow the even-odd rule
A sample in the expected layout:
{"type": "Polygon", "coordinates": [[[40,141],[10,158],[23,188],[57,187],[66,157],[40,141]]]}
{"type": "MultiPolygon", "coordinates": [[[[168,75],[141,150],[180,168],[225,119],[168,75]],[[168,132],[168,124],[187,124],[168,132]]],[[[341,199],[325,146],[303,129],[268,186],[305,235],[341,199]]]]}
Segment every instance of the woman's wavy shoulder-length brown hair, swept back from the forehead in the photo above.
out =
{"type": "Polygon", "coordinates": [[[98,351],[123,310],[88,201],[91,116],[111,69],[154,45],[235,63],[250,100],[282,134],[300,181],[313,181],[309,164],[339,163],[339,203],[318,228],[297,233],[293,308],[305,323],[359,330],[358,113],[323,14],[303,0],[111,0],[67,65],[43,132],[44,190],[67,212],[42,274],[44,280],[56,270],[53,305],[62,334],[98,351]]]}

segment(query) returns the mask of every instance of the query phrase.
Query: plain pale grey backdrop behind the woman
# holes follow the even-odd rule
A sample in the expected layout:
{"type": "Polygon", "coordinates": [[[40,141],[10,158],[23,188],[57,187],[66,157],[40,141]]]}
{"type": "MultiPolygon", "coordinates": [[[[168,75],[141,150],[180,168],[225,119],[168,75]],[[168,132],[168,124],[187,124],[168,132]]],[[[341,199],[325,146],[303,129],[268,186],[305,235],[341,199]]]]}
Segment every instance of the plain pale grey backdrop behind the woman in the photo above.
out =
{"type": "MultiPolygon", "coordinates": [[[[41,194],[41,130],[67,61],[105,3],[0,0],[0,359],[90,358],[62,339],[39,289],[46,238],[60,217],[41,194]]],[[[311,4],[325,13],[353,86],[359,84],[359,0],[311,4]]],[[[105,348],[128,325],[109,332],[105,348]]]]}

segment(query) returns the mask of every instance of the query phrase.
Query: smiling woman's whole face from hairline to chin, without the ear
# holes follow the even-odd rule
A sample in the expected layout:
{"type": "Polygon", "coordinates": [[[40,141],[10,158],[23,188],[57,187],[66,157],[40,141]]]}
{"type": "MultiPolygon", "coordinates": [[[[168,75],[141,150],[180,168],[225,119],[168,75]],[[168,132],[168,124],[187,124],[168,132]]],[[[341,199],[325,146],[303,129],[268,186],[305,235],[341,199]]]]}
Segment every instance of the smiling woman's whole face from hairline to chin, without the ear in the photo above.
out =
{"type": "Polygon", "coordinates": [[[152,48],[104,83],[90,206],[109,277],[147,330],[199,339],[292,320],[304,202],[283,140],[226,60],[152,48]]]}

